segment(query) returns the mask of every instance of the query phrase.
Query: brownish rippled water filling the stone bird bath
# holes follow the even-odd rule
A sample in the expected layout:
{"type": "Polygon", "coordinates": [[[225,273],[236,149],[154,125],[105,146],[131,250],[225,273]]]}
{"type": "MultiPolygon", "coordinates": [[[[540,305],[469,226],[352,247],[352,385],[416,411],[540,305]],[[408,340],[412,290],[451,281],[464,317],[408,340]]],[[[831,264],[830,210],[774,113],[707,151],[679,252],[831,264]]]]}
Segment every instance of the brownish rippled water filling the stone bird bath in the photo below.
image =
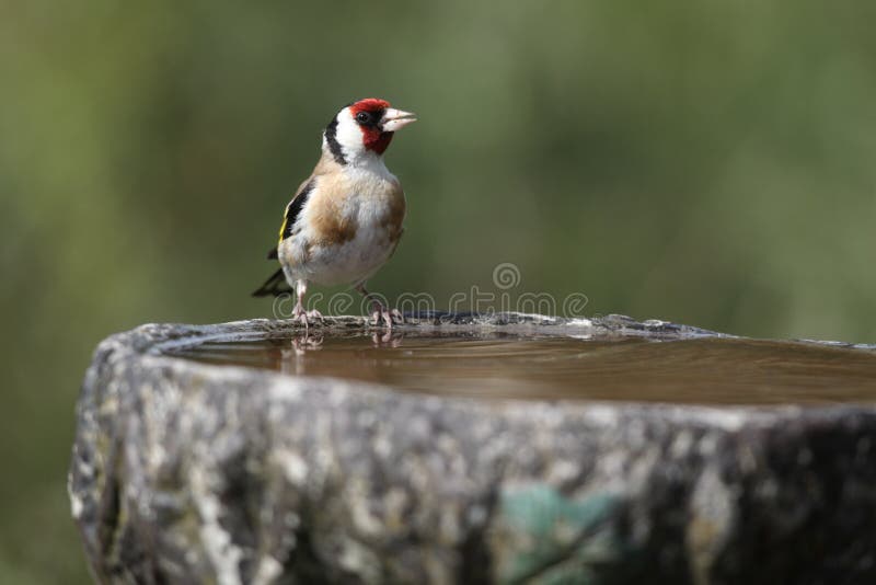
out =
{"type": "Polygon", "coordinates": [[[876,400],[876,351],[730,339],[344,336],[205,343],[197,362],[335,376],[440,395],[699,404],[876,400]]]}

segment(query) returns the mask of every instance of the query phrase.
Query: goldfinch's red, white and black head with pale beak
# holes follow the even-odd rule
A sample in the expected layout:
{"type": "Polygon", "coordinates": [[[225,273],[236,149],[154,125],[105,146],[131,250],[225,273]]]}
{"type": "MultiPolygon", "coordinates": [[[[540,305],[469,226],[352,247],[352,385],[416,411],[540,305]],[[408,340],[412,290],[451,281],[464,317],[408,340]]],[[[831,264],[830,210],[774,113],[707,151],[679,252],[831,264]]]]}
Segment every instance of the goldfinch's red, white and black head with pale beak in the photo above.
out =
{"type": "Polygon", "coordinates": [[[339,164],[357,164],[380,158],[395,130],[416,122],[416,116],[390,107],[376,97],[359,100],[344,107],[323,133],[323,150],[339,164]]]}

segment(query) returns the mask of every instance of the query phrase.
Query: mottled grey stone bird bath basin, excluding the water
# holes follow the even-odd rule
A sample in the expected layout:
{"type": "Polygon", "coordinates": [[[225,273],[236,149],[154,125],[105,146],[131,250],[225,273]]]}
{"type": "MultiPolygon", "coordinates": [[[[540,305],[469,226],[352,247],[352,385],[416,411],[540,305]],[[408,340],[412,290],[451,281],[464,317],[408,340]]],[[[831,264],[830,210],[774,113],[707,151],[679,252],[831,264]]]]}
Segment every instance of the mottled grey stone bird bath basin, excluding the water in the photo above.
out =
{"type": "MultiPolygon", "coordinates": [[[[708,334],[407,326],[436,324],[708,334]]],[[[145,325],[99,346],[69,490],[100,582],[876,583],[874,409],[441,399],[162,355],[292,328],[145,325]]]]}

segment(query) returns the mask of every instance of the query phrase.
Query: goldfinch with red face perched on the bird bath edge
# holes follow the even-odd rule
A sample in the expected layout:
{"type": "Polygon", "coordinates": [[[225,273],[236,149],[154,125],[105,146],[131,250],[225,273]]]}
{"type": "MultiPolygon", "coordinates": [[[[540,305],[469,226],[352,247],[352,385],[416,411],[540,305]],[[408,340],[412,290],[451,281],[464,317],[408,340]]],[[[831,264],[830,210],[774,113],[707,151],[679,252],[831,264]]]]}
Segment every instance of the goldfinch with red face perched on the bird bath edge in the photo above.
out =
{"type": "Polygon", "coordinates": [[[347,104],[322,133],[322,154],[286,206],[279,240],[268,260],[280,267],[254,297],[295,291],[292,318],[307,325],[322,314],[304,309],[308,285],[351,285],[368,301],[374,324],[392,329],[390,311],[366,283],[392,256],[404,232],[402,184],[383,161],[396,130],[416,122],[385,100],[347,104]]]}

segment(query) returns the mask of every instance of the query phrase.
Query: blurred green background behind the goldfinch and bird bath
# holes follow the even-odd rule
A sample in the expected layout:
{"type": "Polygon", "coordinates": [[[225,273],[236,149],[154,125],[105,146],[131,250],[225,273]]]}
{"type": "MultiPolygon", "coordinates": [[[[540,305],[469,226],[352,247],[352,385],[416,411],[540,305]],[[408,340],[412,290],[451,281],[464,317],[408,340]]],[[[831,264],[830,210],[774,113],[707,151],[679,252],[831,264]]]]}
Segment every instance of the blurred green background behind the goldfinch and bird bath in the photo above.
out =
{"type": "Polygon", "coordinates": [[[876,342],[876,3],[0,4],[0,582],[88,576],[65,475],[95,344],[266,317],[345,103],[420,115],[371,288],[876,342]]]}

